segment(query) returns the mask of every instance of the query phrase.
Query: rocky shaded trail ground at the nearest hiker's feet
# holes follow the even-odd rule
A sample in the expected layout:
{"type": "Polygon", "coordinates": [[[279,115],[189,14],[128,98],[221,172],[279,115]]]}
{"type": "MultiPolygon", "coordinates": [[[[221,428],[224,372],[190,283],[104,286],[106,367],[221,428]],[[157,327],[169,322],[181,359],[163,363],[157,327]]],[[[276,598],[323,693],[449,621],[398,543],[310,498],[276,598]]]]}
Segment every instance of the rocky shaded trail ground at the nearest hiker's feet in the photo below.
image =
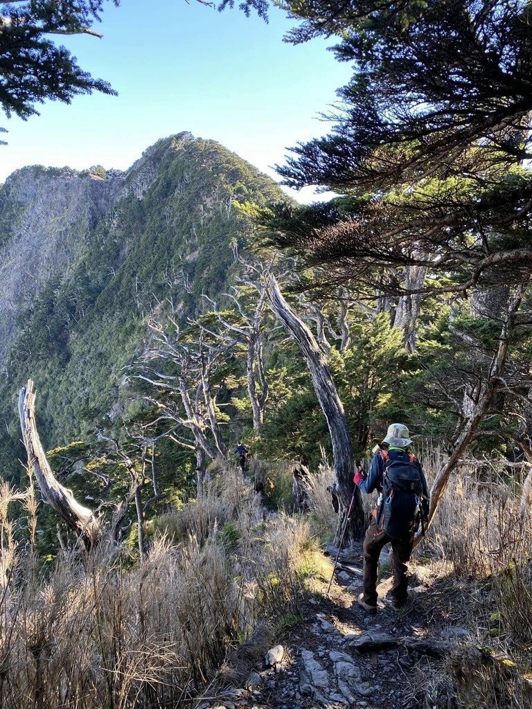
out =
{"type": "MultiPolygon", "coordinates": [[[[336,551],[328,549],[332,558],[336,551]]],[[[460,642],[475,635],[476,629],[464,627],[471,599],[448,577],[431,574],[430,565],[413,568],[406,611],[387,600],[392,579],[384,574],[379,610],[367,615],[356,602],[361,549],[340,554],[331,593],[306,601],[304,620],[286,630],[270,654],[260,655],[242,686],[225,688],[201,707],[456,707],[448,666],[460,642]]]]}

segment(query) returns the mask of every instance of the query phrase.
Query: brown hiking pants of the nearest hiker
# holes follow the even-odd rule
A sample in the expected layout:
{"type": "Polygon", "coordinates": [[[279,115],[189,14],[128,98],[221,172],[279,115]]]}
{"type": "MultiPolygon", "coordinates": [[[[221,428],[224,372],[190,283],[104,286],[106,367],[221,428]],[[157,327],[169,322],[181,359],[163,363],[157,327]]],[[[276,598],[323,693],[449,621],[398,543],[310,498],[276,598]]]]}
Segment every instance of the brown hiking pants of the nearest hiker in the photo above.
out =
{"type": "Polygon", "coordinates": [[[392,586],[392,603],[404,605],[408,593],[408,562],[414,547],[413,542],[404,542],[392,539],[384,532],[380,532],[372,520],[364,537],[364,601],[370,605],[377,605],[377,566],[379,555],[387,542],[391,542],[393,550],[394,585],[392,586]]]}

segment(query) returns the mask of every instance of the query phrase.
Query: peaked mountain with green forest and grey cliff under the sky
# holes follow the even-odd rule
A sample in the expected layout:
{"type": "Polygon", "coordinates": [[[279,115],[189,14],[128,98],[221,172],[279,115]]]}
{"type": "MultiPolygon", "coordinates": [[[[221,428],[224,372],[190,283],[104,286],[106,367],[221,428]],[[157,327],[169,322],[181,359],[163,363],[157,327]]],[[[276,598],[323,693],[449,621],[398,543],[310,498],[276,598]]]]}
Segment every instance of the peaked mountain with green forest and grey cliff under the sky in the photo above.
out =
{"type": "Polygon", "coordinates": [[[119,413],[123,367],[165,301],[184,320],[231,282],[246,223],[233,201],[277,201],[270,178],[209,140],[160,140],[131,169],[28,167],[0,188],[2,469],[18,389],[39,391],[45,445],[119,413]]]}

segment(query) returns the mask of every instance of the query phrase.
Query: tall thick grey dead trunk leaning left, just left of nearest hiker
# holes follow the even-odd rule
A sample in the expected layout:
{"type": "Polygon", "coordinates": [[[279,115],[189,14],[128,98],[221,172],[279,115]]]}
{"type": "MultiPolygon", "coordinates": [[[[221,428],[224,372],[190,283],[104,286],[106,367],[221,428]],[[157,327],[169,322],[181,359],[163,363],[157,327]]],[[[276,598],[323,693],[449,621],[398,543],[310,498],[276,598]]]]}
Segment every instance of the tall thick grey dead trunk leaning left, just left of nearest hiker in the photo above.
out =
{"type": "Polygon", "coordinates": [[[353,475],[355,474],[353,449],[342,402],[338,396],[338,391],[336,391],[323,350],[319,347],[309,328],[306,327],[302,320],[292,311],[287,301],[284,300],[279,284],[277,284],[275,277],[271,274],[267,277],[267,294],[275,315],[287,328],[301,349],[306,366],[309,367],[312,384],[314,385],[314,391],[316,391],[321,411],[323,411],[327,421],[329,435],[331,435],[335,476],[333,492],[336,494],[339,503],[338,526],[336,527],[335,536],[336,545],[340,545],[350,501],[354,496],[351,518],[344,536],[344,544],[350,545],[360,534],[365,520],[360,491],[353,485],[353,475]]]}

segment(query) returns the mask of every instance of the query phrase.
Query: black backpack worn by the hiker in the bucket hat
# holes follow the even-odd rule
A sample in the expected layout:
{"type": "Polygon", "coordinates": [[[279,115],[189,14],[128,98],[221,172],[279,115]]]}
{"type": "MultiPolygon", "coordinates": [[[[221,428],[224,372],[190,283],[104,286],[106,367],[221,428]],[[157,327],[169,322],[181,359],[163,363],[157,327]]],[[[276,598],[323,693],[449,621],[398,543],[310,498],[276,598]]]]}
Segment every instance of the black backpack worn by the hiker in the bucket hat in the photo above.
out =
{"type": "Polygon", "coordinates": [[[384,450],[380,455],[384,459],[384,477],[375,522],[379,530],[392,539],[413,540],[421,520],[423,500],[423,483],[419,466],[415,464],[416,457],[409,453],[406,461],[391,460],[384,450]]]}

